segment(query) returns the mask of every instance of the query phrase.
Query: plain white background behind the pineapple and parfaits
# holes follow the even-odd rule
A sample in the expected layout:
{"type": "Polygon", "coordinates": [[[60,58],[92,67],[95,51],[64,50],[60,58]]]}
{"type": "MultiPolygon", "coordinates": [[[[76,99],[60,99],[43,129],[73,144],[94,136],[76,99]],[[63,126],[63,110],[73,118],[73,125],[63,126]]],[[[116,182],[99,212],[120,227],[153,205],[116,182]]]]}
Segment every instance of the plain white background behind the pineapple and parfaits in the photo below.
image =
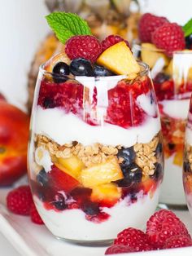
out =
{"type": "MultiPolygon", "coordinates": [[[[93,0],[94,1],[94,0],[93,0]]],[[[143,11],[185,24],[192,0],[140,0],[143,11]]],[[[27,100],[27,74],[37,46],[49,31],[44,0],[0,0],[0,91],[20,108],[27,100]]]]}

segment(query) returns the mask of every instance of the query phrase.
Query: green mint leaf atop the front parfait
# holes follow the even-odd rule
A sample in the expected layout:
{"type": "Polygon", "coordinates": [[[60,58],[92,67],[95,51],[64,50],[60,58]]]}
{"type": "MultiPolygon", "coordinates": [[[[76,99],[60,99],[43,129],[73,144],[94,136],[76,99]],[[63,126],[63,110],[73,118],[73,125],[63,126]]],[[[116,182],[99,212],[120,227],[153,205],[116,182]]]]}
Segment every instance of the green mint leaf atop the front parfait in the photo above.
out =
{"type": "Polygon", "coordinates": [[[87,22],[75,13],[53,12],[46,15],[46,20],[60,42],[65,43],[75,35],[91,35],[87,22]]]}

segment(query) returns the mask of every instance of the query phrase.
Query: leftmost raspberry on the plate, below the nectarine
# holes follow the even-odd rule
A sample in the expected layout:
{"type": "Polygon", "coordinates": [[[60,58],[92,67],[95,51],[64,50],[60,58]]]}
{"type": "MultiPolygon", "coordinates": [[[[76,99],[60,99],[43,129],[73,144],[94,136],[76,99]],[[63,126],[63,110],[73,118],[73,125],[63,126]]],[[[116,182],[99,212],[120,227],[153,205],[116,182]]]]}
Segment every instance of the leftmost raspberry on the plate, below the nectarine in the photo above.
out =
{"type": "Polygon", "coordinates": [[[15,188],[7,195],[7,208],[14,214],[29,215],[33,203],[29,186],[15,188]]]}

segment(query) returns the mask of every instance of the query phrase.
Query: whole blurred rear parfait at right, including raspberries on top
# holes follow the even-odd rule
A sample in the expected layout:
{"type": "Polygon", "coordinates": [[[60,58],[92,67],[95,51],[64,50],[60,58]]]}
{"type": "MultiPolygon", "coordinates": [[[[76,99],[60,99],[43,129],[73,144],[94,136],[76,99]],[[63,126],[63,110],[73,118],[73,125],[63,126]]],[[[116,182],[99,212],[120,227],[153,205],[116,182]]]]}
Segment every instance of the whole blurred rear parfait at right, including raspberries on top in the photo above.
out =
{"type": "Polygon", "coordinates": [[[182,162],[185,122],[192,91],[192,20],[185,26],[146,13],[139,22],[141,46],[133,52],[151,68],[164,138],[164,183],[160,201],[185,205],[182,162]]]}

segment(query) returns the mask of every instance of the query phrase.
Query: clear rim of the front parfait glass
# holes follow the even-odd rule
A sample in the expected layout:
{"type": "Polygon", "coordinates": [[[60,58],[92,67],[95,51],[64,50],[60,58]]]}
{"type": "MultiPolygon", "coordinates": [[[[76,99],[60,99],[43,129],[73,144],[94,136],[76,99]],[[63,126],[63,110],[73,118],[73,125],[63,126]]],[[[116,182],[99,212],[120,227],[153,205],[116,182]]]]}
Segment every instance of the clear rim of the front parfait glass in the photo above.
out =
{"type": "MultiPolygon", "coordinates": [[[[44,67],[45,67],[45,64],[46,63],[43,63],[40,65],[39,67],[39,72],[42,73],[43,75],[50,75],[50,76],[54,76],[54,77],[57,77],[57,78],[62,78],[62,77],[68,77],[68,79],[76,79],[76,77],[87,77],[87,76],[74,76],[74,75],[61,75],[61,74],[56,74],[56,73],[53,73],[53,72],[49,72],[47,71],[44,67]]],[[[138,73],[137,73],[137,77],[138,76],[144,76],[146,75],[147,73],[150,72],[150,67],[148,64],[146,64],[145,62],[141,61],[141,60],[137,60],[137,64],[139,64],[140,67],[142,67],[142,70],[140,70],[138,73]]],[[[131,75],[132,73],[129,73],[128,75],[124,74],[124,75],[114,75],[114,76],[107,76],[107,77],[102,77],[103,79],[109,79],[110,77],[128,77],[129,75],[131,75]]],[[[99,76],[95,76],[95,78],[97,78],[99,76]]],[[[88,77],[90,78],[90,77],[88,77]]],[[[93,78],[93,77],[92,77],[93,78]]],[[[101,78],[101,77],[100,77],[101,78]]]]}

